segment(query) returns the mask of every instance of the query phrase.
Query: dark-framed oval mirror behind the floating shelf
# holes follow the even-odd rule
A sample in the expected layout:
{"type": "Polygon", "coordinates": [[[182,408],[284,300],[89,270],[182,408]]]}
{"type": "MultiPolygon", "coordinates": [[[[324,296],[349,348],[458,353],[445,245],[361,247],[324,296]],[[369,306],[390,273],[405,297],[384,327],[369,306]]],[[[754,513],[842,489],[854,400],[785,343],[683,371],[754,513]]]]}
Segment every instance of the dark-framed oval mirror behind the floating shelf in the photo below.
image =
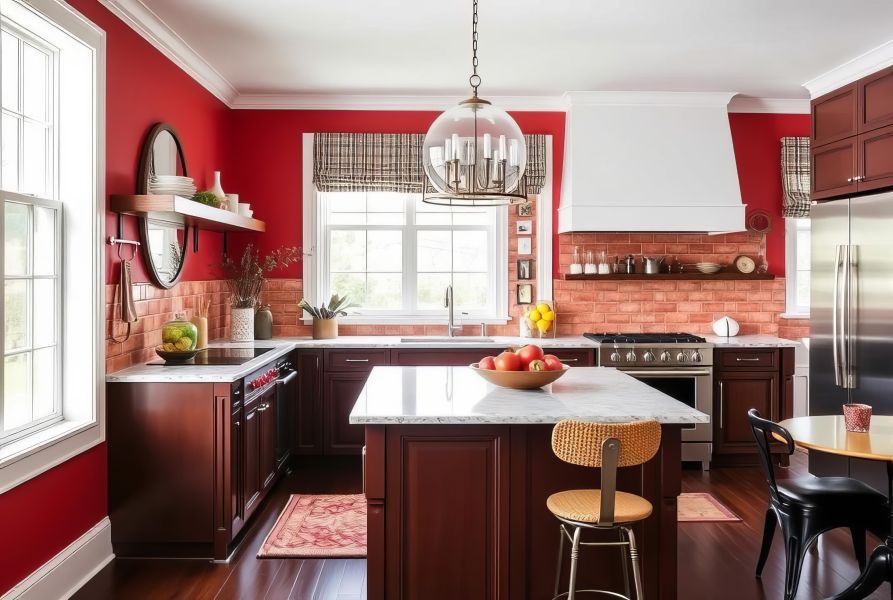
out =
{"type": "MultiPolygon", "coordinates": [[[[180,138],[173,127],[158,123],[152,127],[143,143],[137,174],[137,193],[153,193],[151,188],[154,178],[171,175],[187,177],[186,158],[180,138]]],[[[165,217],[170,215],[165,214],[165,217]]],[[[141,221],[141,247],[146,270],[156,285],[171,288],[180,279],[189,254],[189,227],[185,222],[153,218],[152,213],[141,221]]]]}

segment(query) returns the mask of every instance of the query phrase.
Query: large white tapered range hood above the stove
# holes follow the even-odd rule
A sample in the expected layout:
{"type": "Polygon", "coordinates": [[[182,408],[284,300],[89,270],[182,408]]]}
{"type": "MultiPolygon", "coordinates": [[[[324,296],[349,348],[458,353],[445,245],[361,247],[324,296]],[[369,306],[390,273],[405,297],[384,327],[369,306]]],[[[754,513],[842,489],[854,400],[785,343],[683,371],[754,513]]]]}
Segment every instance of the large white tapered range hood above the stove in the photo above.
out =
{"type": "Polygon", "coordinates": [[[568,92],[559,233],[743,230],[734,95],[568,92]]]}

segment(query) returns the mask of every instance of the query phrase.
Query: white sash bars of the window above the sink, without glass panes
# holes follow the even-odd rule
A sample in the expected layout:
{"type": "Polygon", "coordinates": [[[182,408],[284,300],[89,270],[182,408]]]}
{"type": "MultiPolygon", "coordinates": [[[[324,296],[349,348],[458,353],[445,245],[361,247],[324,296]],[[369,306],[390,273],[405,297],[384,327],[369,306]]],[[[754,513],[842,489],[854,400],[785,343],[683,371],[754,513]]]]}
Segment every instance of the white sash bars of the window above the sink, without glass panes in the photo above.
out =
{"type": "MultiPolygon", "coordinates": [[[[416,224],[416,204],[420,194],[407,195],[403,202],[403,225],[331,225],[328,223],[329,207],[326,202],[326,194],[316,193],[317,204],[317,231],[318,243],[317,252],[314,260],[316,261],[316,269],[318,273],[318,301],[325,301],[331,296],[331,236],[336,231],[401,231],[402,236],[402,306],[398,309],[353,309],[351,317],[362,320],[369,318],[374,321],[376,318],[394,318],[405,317],[407,319],[431,319],[439,318],[444,315],[444,309],[424,309],[418,307],[418,269],[416,240],[420,231],[482,231],[487,234],[487,251],[489,260],[489,268],[485,272],[487,274],[487,287],[491,290],[488,306],[483,309],[471,309],[462,311],[462,316],[476,317],[479,319],[500,319],[504,318],[507,309],[504,300],[501,298],[500,279],[507,279],[507,262],[502,260],[504,252],[500,250],[500,246],[505,245],[506,235],[502,233],[507,228],[505,207],[491,209],[488,213],[489,222],[484,225],[418,225],[416,224]],[[504,266],[502,263],[506,263],[504,266]],[[495,265],[495,267],[494,267],[495,265]]],[[[453,211],[450,211],[453,212],[453,211]]],[[[462,212],[461,210],[456,212],[462,212]]],[[[437,214],[449,214],[444,211],[437,214]]],[[[451,246],[452,247],[452,246],[451,246]]],[[[340,272],[340,271],[339,271],[340,272]]],[[[377,273],[377,271],[358,271],[358,273],[377,273]]],[[[453,274],[469,273],[472,271],[462,271],[451,269],[445,271],[452,278],[453,274]]],[[[474,271],[483,273],[481,271],[474,271]]]]}

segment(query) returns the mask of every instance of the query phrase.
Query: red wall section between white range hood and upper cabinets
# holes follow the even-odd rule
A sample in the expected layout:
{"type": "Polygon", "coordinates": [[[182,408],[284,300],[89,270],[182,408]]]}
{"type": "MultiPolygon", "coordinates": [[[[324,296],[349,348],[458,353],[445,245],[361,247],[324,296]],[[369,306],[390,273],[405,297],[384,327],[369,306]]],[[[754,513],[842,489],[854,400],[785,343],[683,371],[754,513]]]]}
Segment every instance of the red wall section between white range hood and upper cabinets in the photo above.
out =
{"type": "Polygon", "coordinates": [[[741,197],[748,212],[762,208],[772,215],[766,238],[769,271],[784,276],[784,218],[781,216],[781,143],[785,136],[808,136],[809,115],[732,113],[732,145],[738,163],[741,197]]]}

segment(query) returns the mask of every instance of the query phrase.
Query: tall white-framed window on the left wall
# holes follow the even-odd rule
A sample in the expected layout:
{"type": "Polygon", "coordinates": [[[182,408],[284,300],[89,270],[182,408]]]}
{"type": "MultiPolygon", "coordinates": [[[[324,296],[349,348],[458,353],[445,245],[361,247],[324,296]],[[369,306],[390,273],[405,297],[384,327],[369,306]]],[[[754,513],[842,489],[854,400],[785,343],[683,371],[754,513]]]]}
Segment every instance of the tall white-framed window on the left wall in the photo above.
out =
{"type": "Polygon", "coordinates": [[[2,493],[104,439],[105,42],[61,0],[0,0],[0,37],[2,493]]]}

